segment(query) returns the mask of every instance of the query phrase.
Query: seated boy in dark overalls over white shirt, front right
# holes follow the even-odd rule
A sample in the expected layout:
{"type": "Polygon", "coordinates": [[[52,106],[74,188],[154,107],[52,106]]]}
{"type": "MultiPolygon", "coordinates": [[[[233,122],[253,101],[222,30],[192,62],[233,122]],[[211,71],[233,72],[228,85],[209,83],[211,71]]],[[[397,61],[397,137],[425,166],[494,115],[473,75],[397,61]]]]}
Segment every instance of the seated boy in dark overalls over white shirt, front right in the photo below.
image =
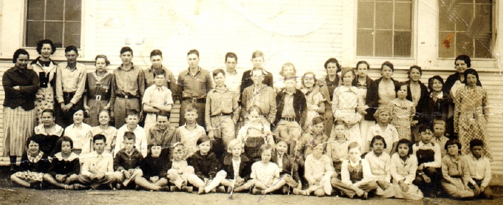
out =
{"type": "Polygon", "coordinates": [[[432,128],[427,125],[419,127],[421,141],[412,145],[412,152],[417,157],[417,174],[414,184],[419,186],[425,196],[435,198],[440,194],[440,166],[442,152],[437,143],[432,142],[432,128]]]}

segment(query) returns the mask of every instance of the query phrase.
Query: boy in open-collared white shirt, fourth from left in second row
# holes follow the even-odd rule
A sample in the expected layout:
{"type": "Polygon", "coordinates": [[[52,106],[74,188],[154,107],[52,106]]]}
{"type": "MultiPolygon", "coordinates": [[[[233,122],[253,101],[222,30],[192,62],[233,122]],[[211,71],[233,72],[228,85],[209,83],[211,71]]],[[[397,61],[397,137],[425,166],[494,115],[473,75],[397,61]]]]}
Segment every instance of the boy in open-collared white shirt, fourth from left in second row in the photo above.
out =
{"type": "Polygon", "coordinates": [[[147,137],[145,130],[138,125],[138,118],[141,115],[136,110],[129,110],[126,116],[126,124],[117,130],[116,147],[113,148],[113,156],[117,156],[117,152],[124,148],[122,140],[125,132],[133,132],[136,136],[134,146],[143,156],[147,156],[147,137]]]}

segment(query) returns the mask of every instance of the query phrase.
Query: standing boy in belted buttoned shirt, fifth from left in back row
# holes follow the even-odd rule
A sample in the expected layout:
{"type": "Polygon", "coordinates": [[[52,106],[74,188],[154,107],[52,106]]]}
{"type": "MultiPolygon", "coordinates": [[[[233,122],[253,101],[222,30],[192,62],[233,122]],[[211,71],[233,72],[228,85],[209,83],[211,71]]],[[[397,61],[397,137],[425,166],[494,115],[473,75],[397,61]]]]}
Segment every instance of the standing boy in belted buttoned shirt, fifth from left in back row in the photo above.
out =
{"type": "Polygon", "coordinates": [[[126,119],[128,110],[136,110],[140,112],[138,116],[143,117],[140,105],[143,93],[145,93],[145,73],[141,68],[133,65],[133,49],[127,46],[122,47],[120,57],[121,66],[113,70],[110,99],[110,117],[115,119],[116,128],[124,125],[123,120],[126,119]]]}

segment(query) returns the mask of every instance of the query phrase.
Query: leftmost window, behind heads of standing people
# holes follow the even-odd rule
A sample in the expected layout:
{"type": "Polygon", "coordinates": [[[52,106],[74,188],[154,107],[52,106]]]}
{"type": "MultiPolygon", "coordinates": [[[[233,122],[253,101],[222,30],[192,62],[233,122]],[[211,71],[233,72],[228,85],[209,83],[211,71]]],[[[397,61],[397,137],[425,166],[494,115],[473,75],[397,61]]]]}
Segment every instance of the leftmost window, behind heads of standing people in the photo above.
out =
{"type": "Polygon", "coordinates": [[[47,38],[58,48],[81,48],[81,9],[81,0],[27,0],[24,45],[47,38]]]}

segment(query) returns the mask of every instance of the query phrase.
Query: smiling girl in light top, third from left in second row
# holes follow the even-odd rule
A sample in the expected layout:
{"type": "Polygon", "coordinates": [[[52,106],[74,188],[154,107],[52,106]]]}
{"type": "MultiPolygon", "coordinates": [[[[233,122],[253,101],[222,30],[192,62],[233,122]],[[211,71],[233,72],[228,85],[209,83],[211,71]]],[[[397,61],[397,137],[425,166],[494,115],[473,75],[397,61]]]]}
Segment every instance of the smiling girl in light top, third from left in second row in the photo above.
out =
{"type": "Polygon", "coordinates": [[[104,135],[106,137],[105,152],[112,152],[116,146],[117,128],[110,126],[110,112],[100,110],[96,116],[100,125],[91,128],[91,135],[104,135]]]}

